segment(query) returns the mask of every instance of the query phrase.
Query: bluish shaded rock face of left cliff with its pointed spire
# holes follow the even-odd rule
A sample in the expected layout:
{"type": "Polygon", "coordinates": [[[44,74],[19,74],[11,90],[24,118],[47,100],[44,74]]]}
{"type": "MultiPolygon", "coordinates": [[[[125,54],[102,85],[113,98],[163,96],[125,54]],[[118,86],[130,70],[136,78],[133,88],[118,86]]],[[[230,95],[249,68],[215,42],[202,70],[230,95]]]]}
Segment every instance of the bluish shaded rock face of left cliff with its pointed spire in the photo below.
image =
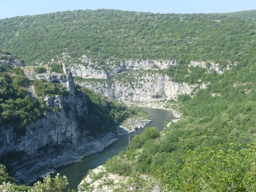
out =
{"type": "Polygon", "coordinates": [[[50,80],[60,81],[69,91],[66,96],[45,97],[48,106],[56,106],[58,112],[47,112],[45,117],[30,123],[26,127],[26,135],[16,138],[12,127],[1,129],[0,155],[13,150],[23,151],[29,156],[36,156],[38,148],[48,144],[60,144],[70,142],[77,143],[80,133],[77,127],[75,113],[77,115],[87,114],[87,100],[85,95],[74,95],[74,81],[68,69],[63,65],[65,78],[58,79],[57,76],[48,76],[50,80]],[[54,78],[53,78],[54,77],[54,78]],[[56,78],[56,79],[55,79],[56,78]],[[65,106],[70,109],[65,112],[65,106]]]}

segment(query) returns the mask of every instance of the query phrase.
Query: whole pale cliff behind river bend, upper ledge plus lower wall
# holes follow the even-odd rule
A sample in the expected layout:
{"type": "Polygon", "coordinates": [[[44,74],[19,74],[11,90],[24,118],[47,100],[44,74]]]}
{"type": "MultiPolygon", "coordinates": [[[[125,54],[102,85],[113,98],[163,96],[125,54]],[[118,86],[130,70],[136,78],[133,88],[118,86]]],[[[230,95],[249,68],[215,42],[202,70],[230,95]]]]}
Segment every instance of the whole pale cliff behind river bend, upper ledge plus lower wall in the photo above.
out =
{"type": "Polygon", "coordinates": [[[127,60],[114,65],[109,63],[108,69],[95,68],[90,60],[87,62],[89,66],[69,67],[74,76],[84,79],[77,83],[111,99],[141,102],[177,100],[179,95],[190,94],[198,87],[196,84],[174,82],[157,72],[177,65],[176,60],[127,60]]]}

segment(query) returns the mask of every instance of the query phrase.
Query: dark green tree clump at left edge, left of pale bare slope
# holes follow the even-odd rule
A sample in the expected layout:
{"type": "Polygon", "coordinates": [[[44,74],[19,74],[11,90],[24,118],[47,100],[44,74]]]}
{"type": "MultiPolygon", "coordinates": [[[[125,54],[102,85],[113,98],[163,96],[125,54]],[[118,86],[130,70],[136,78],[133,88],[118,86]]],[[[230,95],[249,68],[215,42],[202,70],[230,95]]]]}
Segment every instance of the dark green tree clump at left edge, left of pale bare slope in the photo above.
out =
{"type": "Polygon", "coordinates": [[[17,134],[26,133],[24,127],[43,116],[45,104],[28,95],[30,81],[20,68],[0,67],[0,126],[13,126],[17,134]]]}

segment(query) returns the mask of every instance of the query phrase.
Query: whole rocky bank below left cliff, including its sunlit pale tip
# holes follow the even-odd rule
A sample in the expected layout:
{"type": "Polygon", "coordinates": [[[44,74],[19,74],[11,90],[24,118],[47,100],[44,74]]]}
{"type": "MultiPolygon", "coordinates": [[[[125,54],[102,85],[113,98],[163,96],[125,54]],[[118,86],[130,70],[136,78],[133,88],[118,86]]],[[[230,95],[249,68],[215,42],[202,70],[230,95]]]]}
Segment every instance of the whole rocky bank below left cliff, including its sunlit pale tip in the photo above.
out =
{"type": "Polygon", "coordinates": [[[58,148],[51,148],[49,153],[44,157],[34,158],[30,161],[22,162],[15,166],[15,178],[22,178],[24,184],[33,184],[35,181],[41,180],[49,174],[56,172],[59,167],[67,166],[75,162],[81,161],[84,157],[103,151],[112,143],[118,140],[118,136],[131,134],[132,132],[142,129],[146,124],[151,122],[149,115],[144,112],[126,119],[117,126],[115,132],[105,133],[101,137],[83,138],[78,144],[79,147],[71,147],[70,143],[60,145],[65,147],[65,152],[59,154],[58,148]],[[129,124],[132,122],[131,124],[129,124]],[[37,179],[35,179],[37,178],[37,179]]]}

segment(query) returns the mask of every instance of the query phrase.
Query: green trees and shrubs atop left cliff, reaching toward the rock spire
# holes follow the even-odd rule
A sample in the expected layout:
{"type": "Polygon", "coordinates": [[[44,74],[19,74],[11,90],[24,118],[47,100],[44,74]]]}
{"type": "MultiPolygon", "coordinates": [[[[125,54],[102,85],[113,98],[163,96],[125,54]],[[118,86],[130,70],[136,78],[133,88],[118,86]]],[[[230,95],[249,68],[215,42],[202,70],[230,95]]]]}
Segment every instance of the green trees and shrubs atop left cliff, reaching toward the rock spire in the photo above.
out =
{"type": "MultiPolygon", "coordinates": [[[[4,53],[12,56],[7,51],[4,53]]],[[[68,93],[61,84],[29,80],[22,68],[10,65],[0,66],[0,90],[0,127],[12,126],[18,136],[26,134],[26,125],[43,117],[46,110],[52,110],[42,97],[68,93]],[[38,98],[31,96],[30,86],[34,87],[38,98]]]]}

